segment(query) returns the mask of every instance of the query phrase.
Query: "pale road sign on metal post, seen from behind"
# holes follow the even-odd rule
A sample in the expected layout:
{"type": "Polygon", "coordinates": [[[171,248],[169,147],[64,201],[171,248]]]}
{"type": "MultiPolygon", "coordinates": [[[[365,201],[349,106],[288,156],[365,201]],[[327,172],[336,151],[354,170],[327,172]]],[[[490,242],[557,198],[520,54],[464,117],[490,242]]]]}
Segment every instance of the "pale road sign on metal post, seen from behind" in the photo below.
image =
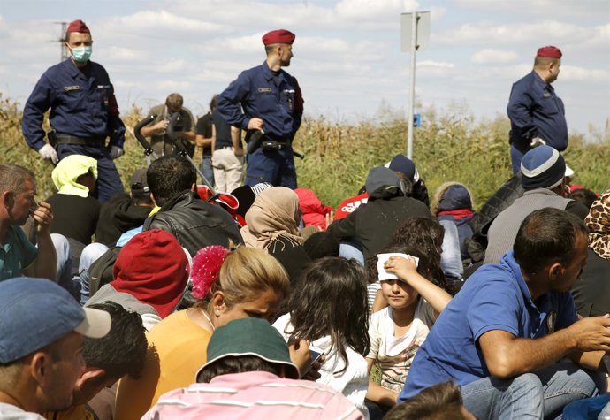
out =
{"type": "Polygon", "coordinates": [[[416,50],[424,50],[430,38],[430,11],[400,14],[400,50],[411,52],[407,114],[407,157],[413,158],[413,103],[416,97],[416,50]]]}

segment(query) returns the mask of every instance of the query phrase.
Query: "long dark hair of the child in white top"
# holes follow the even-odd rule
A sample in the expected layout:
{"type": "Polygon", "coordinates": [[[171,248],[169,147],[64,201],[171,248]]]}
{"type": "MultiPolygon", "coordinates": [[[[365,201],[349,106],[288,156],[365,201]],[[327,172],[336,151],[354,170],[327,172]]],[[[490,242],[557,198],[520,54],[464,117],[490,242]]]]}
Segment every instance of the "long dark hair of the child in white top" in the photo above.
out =
{"type": "Polygon", "coordinates": [[[288,307],[295,337],[331,337],[347,369],[344,342],[361,355],[370,350],[366,271],[355,260],[324,257],[304,271],[293,288],[288,307]]]}

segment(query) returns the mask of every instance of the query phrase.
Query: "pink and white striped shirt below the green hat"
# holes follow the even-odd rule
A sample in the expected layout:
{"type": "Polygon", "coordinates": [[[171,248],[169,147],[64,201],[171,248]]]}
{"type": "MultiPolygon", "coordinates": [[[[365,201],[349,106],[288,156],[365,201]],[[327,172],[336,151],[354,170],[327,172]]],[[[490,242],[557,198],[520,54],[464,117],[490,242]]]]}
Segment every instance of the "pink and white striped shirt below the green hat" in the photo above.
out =
{"type": "Polygon", "coordinates": [[[363,419],[342,393],[306,380],[269,372],[220,375],[210,384],[173,390],[142,419],[363,419]]]}

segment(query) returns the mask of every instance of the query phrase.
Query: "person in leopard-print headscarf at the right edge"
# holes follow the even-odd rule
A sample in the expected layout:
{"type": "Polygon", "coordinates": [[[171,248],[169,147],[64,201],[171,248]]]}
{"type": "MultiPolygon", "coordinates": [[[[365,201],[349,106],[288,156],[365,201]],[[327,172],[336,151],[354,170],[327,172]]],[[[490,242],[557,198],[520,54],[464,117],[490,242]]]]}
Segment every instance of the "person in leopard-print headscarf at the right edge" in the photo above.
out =
{"type": "Polygon", "coordinates": [[[584,223],[589,228],[589,256],[572,295],[579,315],[598,317],[610,313],[610,190],[593,202],[584,223]]]}

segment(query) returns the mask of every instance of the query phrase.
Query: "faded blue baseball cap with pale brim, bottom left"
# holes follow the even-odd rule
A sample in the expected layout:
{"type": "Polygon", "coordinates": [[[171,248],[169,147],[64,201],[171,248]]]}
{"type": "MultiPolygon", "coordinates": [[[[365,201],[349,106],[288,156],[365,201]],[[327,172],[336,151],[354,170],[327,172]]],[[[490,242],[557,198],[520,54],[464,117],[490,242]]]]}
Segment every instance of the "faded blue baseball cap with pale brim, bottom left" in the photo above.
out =
{"type": "Polygon", "coordinates": [[[0,281],[0,363],[14,362],[68,332],[99,339],[110,329],[108,312],[83,309],[51,280],[18,277],[0,281]]]}

